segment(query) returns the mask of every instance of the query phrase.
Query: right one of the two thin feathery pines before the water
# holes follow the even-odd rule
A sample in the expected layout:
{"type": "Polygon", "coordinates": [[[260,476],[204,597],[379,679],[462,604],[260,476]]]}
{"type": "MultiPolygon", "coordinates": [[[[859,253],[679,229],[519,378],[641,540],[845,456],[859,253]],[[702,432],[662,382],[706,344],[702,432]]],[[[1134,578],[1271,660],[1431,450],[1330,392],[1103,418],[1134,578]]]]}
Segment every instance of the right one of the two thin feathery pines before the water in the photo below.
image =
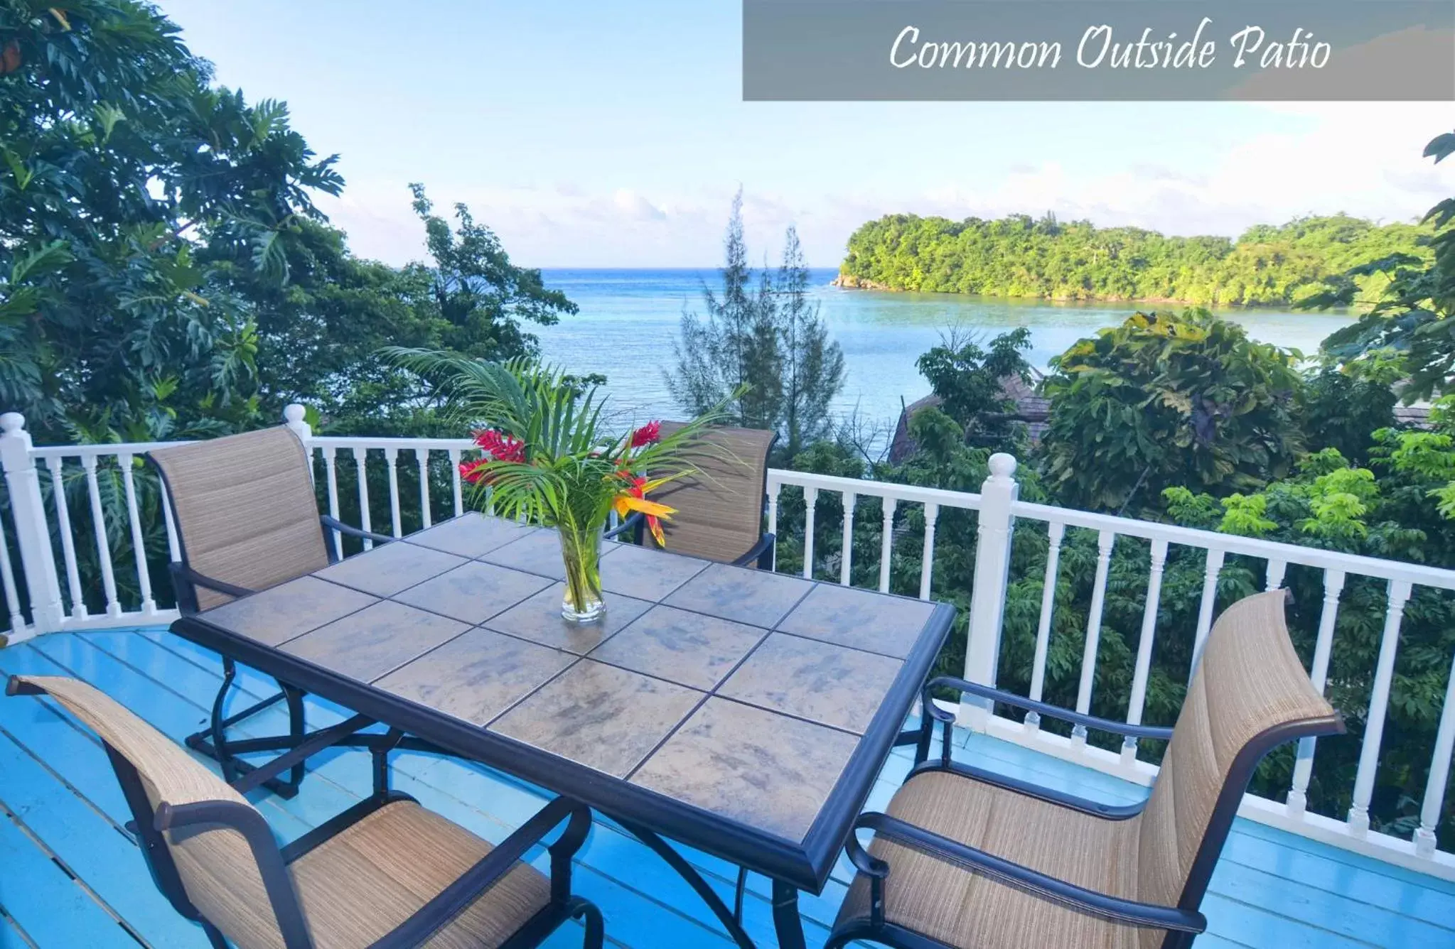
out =
{"type": "Polygon", "coordinates": [[[829,404],[844,385],[844,350],[828,336],[818,301],[809,299],[809,267],[799,231],[789,225],[778,269],[777,323],[783,350],[784,449],[792,458],[832,429],[829,404]]]}

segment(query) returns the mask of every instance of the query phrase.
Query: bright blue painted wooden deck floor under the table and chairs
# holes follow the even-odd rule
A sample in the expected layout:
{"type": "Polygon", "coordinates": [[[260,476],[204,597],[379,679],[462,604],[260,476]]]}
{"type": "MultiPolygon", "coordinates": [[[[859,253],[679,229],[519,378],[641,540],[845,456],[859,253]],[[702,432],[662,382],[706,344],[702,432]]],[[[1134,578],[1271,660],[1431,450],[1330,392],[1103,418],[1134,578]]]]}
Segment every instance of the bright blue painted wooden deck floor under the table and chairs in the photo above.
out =
{"type": "MultiPolygon", "coordinates": [[[[164,629],[55,634],[0,650],[0,674],[79,676],[180,738],[201,727],[217,690],[212,654],[164,629]]],[[[243,674],[258,696],[268,685],[243,674]]],[[[278,728],[260,715],[258,728],[278,728]]],[[[310,724],[339,711],[313,705],[310,724]]],[[[246,731],[246,730],[244,730],[246,731]]],[[[962,735],[960,754],[1085,796],[1128,801],[1144,792],[1115,778],[982,735],[962,735]]],[[[882,807],[909,767],[899,750],[870,799],[882,807]]],[[[260,807],[292,839],[367,793],[368,759],[336,751],[310,763],[294,801],[260,807]]],[[[425,754],[396,756],[394,785],[489,840],[503,839],[533,814],[541,793],[483,767],[425,754]]],[[[0,698],[0,949],[204,949],[201,930],[179,918],[153,888],[131,836],[121,791],[96,740],[48,703],[0,698]]],[[[726,897],[733,868],[716,857],[690,859],[726,897]]],[[[540,855],[537,855],[540,862],[540,855]]],[[[706,907],[665,865],[610,823],[598,823],[579,859],[576,888],[605,913],[615,946],[730,946],[706,907]]],[[[847,865],[819,897],[805,895],[809,946],[822,946],[848,881],[847,865]]],[[[776,945],[767,884],[754,878],[746,929],[776,945]]],[[[1455,946],[1455,885],[1238,821],[1213,875],[1203,910],[1203,949],[1436,948],[1455,946]]],[[[553,949],[579,946],[565,929],[553,949]]]]}

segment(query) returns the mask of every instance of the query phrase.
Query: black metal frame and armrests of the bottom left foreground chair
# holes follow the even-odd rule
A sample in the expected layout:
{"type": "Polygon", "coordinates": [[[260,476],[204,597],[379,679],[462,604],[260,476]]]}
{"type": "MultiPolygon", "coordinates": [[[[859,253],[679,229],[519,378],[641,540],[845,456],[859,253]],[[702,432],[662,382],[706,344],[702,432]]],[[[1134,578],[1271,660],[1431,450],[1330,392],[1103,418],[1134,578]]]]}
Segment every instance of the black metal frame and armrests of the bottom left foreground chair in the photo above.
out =
{"type": "MultiPolygon", "coordinates": [[[[45,695],[45,690],[12,677],[6,685],[6,695],[41,696],[45,695]]],[[[170,830],[176,836],[179,831],[186,833],[189,827],[215,830],[217,825],[226,825],[242,834],[258,862],[258,871],[262,875],[263,888],[282,933],[285,949],[313,949],[303,907],[298,905],[288,876],[288,865],[380,808],[399,801],[415,801],[410,795],[388,788],[388,753],[399,747],[409,747],[406,737],[397,730],[381,734],[358,734],[361,728],[374,724],[364,715],[355,715],[339,725],[316,732],[308,747],[300,746],[288,754],[253,769],[247,776],[233,783],[239,792],[265,786],[276,775],[301,763],[307,756],[316,754],[324,747],[345,744],[343,741],[326,741],[327,738],[352,735],[352,744],[370,748],[374,759],[372,793],[284,847],[276,844],[272,828],[256,809],[236,801],[201,801],[176,807],[163,804],[153,811],[137,769],[111,744],[102,743],[132,814],[132,821],[127,824],[127,828],[138,837],[153,882],[182,917],[202,926],[202,932],[207,933],[214,949],[227,949],[227,940],[188,898],[176,863],[166,840],[163,840],[163,833],[170,830]]],[[[582,921],[586,949],[601,949],[605,939],[601,911],[589,900],[575,897],[570,892],[572,859],[591,831],[591,809],[566,798],[554,798],[546,804],[498,847],[425,902],[413,916],[374,942],[370,949],[412,949],[422,945],[511,872],[517,860],[522,859],[531,847],[540,844],[563,821],[566,828],[554,843],[547,846],[550,853],[550,901],[527,920],[502,945],[502,949],[538,946],[567,918],[582,921]]]]}

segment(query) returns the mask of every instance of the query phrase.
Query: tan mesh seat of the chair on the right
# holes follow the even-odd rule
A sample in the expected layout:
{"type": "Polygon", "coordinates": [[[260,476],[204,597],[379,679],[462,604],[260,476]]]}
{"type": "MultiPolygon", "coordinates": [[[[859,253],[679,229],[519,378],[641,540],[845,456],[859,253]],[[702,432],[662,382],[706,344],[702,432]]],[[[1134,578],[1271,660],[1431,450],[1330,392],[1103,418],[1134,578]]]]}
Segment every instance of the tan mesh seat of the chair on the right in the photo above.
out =
{"type": "MultiPolygon", "coordinates": [[[[952,772],[912,776],[886,812],[1056,879],[1136,898],[1135,820],[1093,817],[952,772]]],[[[941,943],[963,949],[1138,948],[1133,927],[1046,902],[898,843],[876,840],[869,852],[890,868],[885,918],[941,943]]],[[[867,918],[869,879],[858,876],[840,908],[838,926],[867,918]]]]}

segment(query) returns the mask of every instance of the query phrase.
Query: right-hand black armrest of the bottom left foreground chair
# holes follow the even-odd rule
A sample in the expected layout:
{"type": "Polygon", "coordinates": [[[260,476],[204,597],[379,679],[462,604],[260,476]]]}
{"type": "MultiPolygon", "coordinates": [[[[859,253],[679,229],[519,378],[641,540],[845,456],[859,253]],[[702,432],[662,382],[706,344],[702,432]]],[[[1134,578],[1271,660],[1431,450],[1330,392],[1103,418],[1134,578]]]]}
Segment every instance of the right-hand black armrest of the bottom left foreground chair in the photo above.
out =
{"type": "Polygon", "coordinates": [[[451,920],[470,908],[480,895],[498,884],[525,852],[541,841],[553,827],[569,818],[566,831],[556,844],[551,844],[551,897],[556,898],[556,868],[559,863],[557,847],[567,843],[563,855],[569,866],[570,853],[581,847],[591,828],[591,811],[575,801],[556,798],[541,808],[531,820],[521,824],[515,833],[501,841],[501,846],[485,855],[479,863],[461,873],[453,884],[445,887],[434,900],[419,907],[413,916],[374,942],[370,949],[413,949],[422,946],[429,937],[448,926],[451,920]]]}

